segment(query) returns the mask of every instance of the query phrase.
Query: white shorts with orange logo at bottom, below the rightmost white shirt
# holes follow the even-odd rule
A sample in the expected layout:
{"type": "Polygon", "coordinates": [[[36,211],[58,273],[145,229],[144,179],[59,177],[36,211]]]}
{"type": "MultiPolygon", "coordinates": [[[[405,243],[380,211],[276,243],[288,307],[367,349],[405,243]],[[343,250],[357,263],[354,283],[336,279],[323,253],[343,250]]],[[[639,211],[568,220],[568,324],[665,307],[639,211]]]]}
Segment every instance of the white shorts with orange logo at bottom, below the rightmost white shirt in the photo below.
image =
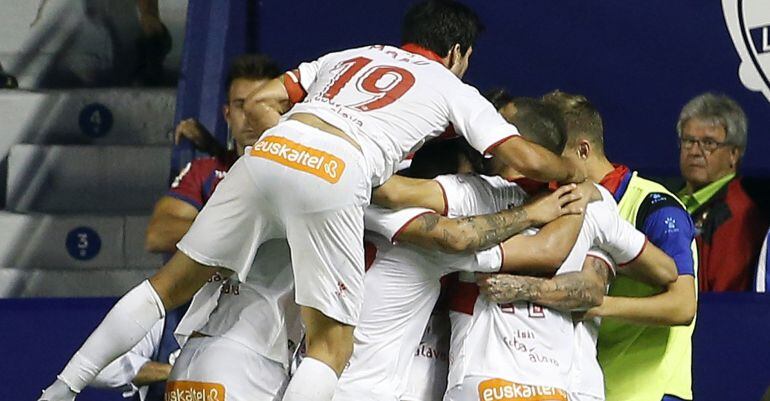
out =
{"type": "Polygon", "coordinates": [[[554,387],[528,386],[505,379],[466,376],[462,384],[447,390],[444,401],[571,401],[568,393],[554,387]]]}

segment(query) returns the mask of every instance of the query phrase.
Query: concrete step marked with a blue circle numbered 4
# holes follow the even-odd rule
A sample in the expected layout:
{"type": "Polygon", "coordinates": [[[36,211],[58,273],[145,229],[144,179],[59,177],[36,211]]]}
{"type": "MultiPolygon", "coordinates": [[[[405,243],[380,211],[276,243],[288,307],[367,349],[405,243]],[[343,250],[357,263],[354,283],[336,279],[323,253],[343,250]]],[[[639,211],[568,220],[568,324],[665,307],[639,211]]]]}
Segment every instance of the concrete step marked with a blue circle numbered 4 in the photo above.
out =
{"type": "Polygon", "coordinates": [[[16,143],[170,145],[175,102],[173,88],[0,91],[0,153],[16,143]]]}

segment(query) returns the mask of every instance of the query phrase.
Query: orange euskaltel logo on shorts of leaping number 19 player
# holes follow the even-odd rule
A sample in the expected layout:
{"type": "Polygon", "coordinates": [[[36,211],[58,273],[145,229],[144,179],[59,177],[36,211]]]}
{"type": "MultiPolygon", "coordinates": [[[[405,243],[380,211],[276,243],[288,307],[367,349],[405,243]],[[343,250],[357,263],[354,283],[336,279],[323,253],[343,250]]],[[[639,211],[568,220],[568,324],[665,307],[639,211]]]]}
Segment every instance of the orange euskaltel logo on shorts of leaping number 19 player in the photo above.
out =
{"type": "Polygon", "coordinates": [[[339,157],[279,136],[262,138],[249,154],[310,173],[331,184],[336,184],[345,171],[345,162],[339,157]]]}

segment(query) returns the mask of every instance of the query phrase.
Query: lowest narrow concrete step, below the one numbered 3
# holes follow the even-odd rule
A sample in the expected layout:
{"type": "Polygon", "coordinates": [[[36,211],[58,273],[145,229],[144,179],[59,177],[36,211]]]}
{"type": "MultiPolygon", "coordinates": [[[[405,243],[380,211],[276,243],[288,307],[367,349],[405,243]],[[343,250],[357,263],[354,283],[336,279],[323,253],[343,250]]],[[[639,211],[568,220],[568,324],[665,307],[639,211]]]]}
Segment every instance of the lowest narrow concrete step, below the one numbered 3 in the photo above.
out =
{"type": "Polygon", "coordinates": [[[0,298],[117,297],[154,272],[143,269],[0,268],[0,298]]]}

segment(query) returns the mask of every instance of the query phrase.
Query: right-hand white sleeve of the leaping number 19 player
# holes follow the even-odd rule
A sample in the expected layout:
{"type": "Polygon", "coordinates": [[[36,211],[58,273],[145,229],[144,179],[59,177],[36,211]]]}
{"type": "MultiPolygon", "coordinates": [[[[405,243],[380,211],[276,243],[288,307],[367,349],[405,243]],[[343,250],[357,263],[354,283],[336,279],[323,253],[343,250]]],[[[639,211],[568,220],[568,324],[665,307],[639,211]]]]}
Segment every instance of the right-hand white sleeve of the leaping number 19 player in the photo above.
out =
{"type": "Polygon", "coordinates": [[[495,145],[519,135],[516,126],[505,121],[492,103],[470,85],[461,83],[447,102],[455,130],[479,152],[486,154],[495,145]]]}

